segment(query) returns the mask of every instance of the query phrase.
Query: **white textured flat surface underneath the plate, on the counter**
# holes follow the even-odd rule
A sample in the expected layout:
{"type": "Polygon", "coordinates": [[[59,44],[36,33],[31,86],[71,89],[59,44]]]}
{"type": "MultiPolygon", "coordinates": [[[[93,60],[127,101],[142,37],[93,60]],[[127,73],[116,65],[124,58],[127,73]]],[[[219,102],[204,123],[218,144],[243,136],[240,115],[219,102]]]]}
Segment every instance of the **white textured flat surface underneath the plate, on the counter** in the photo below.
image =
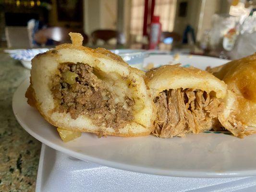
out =
{"type": "Polygon", "coordinates": [[[81,161],[42,144],[36,192],[156,191],[256,192],[256,176],[188,178],[137,173],[81,161]]]}

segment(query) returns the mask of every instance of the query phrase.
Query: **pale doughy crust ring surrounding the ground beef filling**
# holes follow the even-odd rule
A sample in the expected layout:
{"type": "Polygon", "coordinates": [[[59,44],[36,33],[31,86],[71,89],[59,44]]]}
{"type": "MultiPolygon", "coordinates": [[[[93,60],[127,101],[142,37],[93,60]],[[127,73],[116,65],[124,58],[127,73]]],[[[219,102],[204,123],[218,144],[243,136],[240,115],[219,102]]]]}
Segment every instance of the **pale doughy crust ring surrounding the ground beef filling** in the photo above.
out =
{"type": "Polygon", "coordinates": [[[131,68],[121,57],[103,49],[91,49],[81,46],[81,36],[71,34],[73,44],[63,44],[43,54],[38,54],[32,60],[31,81],[27,89],[28,104],[36,107],[40,114],[50,124],[75,132],[93,132],[96,134],[116,135],[123,137],[145,136],[153,129],[154,106],[147,94],[144,82],[145,72],[131,68]],[[78,59],[77,59],[78,58],[78,59]],[[129,122],[118,131],[109,127],[98,127],[90,117],[80,115],[73,120],[69,113],[54,110],[54,98],[50,92],[52,75],[58,74],[57,67],[63,62],[82,62],[98,70],[106,77],[106,84],[112,84],[112,91],[118,94],[131,95],[135,99],[134,121],[129,122]],[[104,71],[105,70],[105,71],[104,71]],[[110,81],[108,81],[110,80],[110,81]],[[134,86],[130,87],[129,82],[134,86]],[[121,92],[122,90],[122,92],[121,92]],[[136,108],[135,108],[136,107],[136,108]]]}

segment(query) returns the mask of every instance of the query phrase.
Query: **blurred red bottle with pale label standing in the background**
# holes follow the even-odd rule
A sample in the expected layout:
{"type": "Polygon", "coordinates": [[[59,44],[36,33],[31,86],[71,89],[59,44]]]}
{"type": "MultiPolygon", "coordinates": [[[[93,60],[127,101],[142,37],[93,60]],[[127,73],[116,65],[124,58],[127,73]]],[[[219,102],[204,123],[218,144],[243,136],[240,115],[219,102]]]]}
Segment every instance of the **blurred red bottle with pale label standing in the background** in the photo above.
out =
{"type": "Polygon", "coordinates": [[[159,16],[153,16],[150,24],[149,49],[156,49],[161,37],[161,24],[159,16]]]}

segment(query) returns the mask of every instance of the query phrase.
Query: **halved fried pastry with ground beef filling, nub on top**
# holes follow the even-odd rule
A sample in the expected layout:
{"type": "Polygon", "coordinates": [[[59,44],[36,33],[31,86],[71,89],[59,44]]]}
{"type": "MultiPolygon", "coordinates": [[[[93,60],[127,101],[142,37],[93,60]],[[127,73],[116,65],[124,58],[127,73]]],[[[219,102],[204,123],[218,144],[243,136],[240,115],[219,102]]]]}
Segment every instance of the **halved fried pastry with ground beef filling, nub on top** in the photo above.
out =
{"type": "Polygon", "coordinates": [[[82,46],[70,33],[63,44],[32,60],[28,103],[52,125],[99,136],[141,136],[152,131],[153,102],[144,72],[110,51],[82,46]]]}

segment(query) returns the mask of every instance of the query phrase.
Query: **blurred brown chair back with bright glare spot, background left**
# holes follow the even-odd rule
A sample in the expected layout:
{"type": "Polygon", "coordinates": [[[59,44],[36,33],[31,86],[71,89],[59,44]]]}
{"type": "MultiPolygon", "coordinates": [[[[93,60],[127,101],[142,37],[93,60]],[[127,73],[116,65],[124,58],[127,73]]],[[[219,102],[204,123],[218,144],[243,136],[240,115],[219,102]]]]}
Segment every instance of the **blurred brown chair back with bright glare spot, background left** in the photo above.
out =
{"type": "Polygon", "coordinates": [[[71,43],[70,36],[68,35],[70,32],[81,33],[84,37],[83,43],[86,44],[88,42],[88,36],[85,35],[83,29],[65,27],[49,27],[39,30],[35,34],[34,38],[35,41],[41,45],[45,45],[48,39],[53,40],[56,45],[71,43]]]}

